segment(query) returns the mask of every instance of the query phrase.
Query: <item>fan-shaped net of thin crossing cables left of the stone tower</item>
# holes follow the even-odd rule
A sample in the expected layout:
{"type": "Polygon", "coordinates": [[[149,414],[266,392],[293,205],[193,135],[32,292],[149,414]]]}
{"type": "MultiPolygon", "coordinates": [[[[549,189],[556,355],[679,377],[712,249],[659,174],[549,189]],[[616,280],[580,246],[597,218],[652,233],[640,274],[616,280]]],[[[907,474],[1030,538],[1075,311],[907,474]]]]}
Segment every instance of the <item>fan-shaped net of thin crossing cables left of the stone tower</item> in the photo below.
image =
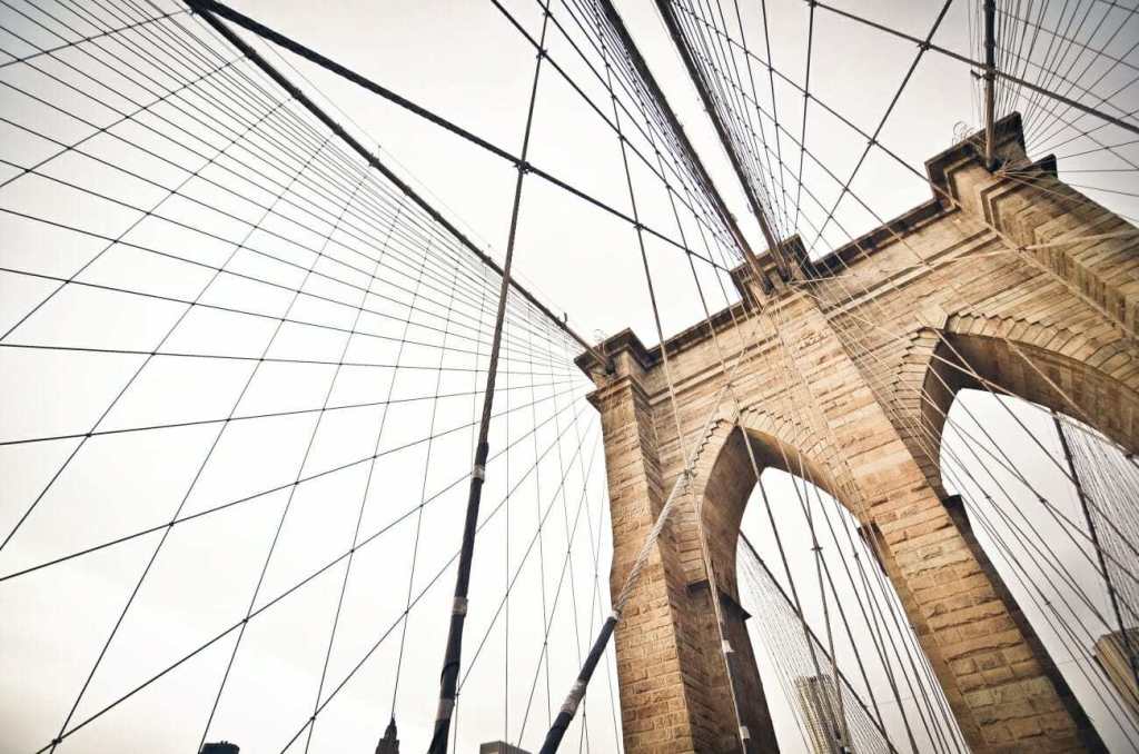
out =
{"type": "MultiPolygon", "coordinates": [[[[435,638],[405,629],[416,607],[439,601],[436,585],[457,563],[445,544],[459,540],[456,517],[445,510],[474,476],[481,424],[497,448],[481,454],[486,470],[478,474],[499,478],[477,530],[495,542],[535,525],[517,515],[507,523],[511,498],[542,518],[560,506],[565,524],[575,503],[574,519],[592,522],[590,535],[566,525],[547,534],[548,544],[595,574],[591,606],[605,599],[596,573],[607,506],[582,458],[590,444],[596,452],[598,428],[581,400],[589,383],[572,362],[581,338],[508,286],[489,257],[263,57],[247,44],[235,55],[235,40],[218,26],[147,2],[6,7],[0,211],[15,241],[3,267],[14,311],[0,345],[21,394],[52,374],[95,371],[90,391],[49,413],[51,421],[21,413],[8,426],[5,448],[40,453],[42,468],[40,486],[6,507],[3,583],[26,590],[106,554],[148,552],[141,569],[124,559],[114,573],[110,583],[125,591],[101,595],[118,603],[109,630],[95,626],[98,651],[75,665],[85,670],[57,679],[75,692],[51,732],[26,745],[49,751],[99,736],[125,702],[138,710],[149,696],[155,704],[167,674],[203,662],[196,682],[210,702],[187,711],[185,726],[202,741],[232,729],[249,716],[251,678],[263,672],[256,661],[277,640],[267,631],[278,616],[288,625],[292,609],[327,626],[312,645],[321,662],[303,683],[306,722],[267,745],[285,751],[303,737],[306,751],[321,747],[331,727],[317,721],[337,714],[334,702],[367,694],[352,682],[395,636],[396,675],[405,653],[421,655],[416,645],[435,638]],[[506,408],[485,410],[481,423],[483,396],[506,408]],[[88,424],[74,427],[84,416],[88,424]],[[149,461],[169,481],[118,494],[114,506],[100,500],[95,508],[105,515],[60,536],[73,485],[108,453],[133,457],[132,468],[149,461]],[[554,476],[555,466],[563,482],[531,492],[527,480],[554,476]],[[162,518],[172,493],[178,505],[165,523],[140,526],[162,518]],[[235,519],[254,509],[257,517],[235,519]],[[228,532],[232,552],[211,542],[219,532],[228,532]],[[323,544],[308,541],[318,532],[328,534],[323,544]],[[428,532],[442,550],[420,551],[428,532]],[[219,609],[189,621],[205,629],[197,637],[124,673],[146,624],[140,610],[153,609],[173,569],[185,572],[187,548],[219,562],[206,582],[219,609]],[[232,568],[232,593],[216,582],[222,563],[232,568]],[[405,600],[377,603],[363,587],[401,569],[405,600]],[[220,609],[249,589],[247,607],[220,609]],[[369,606],[374,614],[363,617],[369,606]]],[[[530,551],[513,560],[508,551],[508,567],[527,590],[546,588],[530,551]]],[[[555,680],[577,659],[560,654],[566,642],[591,630],[577,625],[576,589],[546,616],[557,626],[542,646],[555,680]]],[[[486,615],[475,620],[489,633],[486,615]]],[[[508,642],[497,654],[510,667],[525,650],[508,642]]],[[[493,688],[493,679],[472,675],[478,667],[466,666],[469,682],[493,688]]],[[[423,691],[418,679],[402,697],[393,687],[393,716],[423,691]]],[[[615,723],[613,695],[596,698],[611,707],[596,715],[599,724],[615,723]]],[[[379,728],[366,735],[378,737],[379,728]]]]}

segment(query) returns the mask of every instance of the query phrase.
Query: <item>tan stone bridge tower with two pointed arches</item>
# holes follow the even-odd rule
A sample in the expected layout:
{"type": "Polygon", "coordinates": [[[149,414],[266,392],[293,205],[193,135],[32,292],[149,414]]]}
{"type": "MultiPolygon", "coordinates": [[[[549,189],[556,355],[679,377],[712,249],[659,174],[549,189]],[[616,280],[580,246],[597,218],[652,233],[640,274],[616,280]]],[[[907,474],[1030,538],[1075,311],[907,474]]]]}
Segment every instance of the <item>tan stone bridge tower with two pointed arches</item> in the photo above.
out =
{"type": "Polygon", "coordinates": [[[691,494],[616,631],[631,754],[737,751],[737,724],[749,730],[752,751],[777,751],[738,608],[736,546],[756,481],[745,443],[761,466],[809,469],[874,538],[974,752],[1103,747],[964,511],[947,501],[937,446],[954,393],[988,384],[1139,450],[1139,237],[1062,183],[1054,159],[1029,164],[1017,115],[999,124],[1000,154],[1022,165],[1015,177],[986,170],[974,144],[926,164],[929,202],[820,262],[800,255],[790,279],[770,254],[759,260],[765,279],[756,268],[737,270],[744,301],[712,326],[727,363],[746,350],[732,379],[741,411],[724,402],[707,433],[727,376],[706,322],[665,344],[682,437],[659,345],[646,349],[629,331],[609,338],[614,369],[605,376],[588,354],[579,359],[597,379],[613,590],[683,467],[682,449],[698,449],[691,494]],[[719,654],[696,500],[737,683],[747,690],[740,720],[719,654]]]}

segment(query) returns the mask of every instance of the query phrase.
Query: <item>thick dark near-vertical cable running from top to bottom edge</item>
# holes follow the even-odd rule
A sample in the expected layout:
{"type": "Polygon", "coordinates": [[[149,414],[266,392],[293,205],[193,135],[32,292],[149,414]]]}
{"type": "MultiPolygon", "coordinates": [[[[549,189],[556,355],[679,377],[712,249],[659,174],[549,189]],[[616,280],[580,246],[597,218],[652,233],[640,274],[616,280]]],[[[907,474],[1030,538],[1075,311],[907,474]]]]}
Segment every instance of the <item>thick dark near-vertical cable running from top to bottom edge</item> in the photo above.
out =
{"type": "MultiPolygon", "coordinates": [[[[435,732],[432,735],[429,754],[446,754],[448,735],[451,729],[451,712],[454,710],[456,690],[459,682],[459,664],[462,654],[462,628],[467,618],[467,589],[470,585],[470,565],[475,555],[475,530],[478,525],[478,505],[482,501],[483,480],[486,476],[487,442],[491,426],[491,410],[494,404],[494,378],[498,371],[499,349],[502,343],[502,323],[506,319],[506,302],[510,293],[510,265],[514,262],[514,245],[518,232],[518,208],[522,204],[522,183],[526,178],[526,154],[530,151],[530,136],[534,125],[534,104],[538,100],[538,81],[546,58],[546,31],[549,26],[549,0],[542,8],[541,47],[534,62],[534,79],[530,87],[530,106],[526,110],[526,126],[522,136],[522,157],[518,162],[518,178],[514,185],[514,205],[510,208],[510,231],[507,237],[506,257],[502,262],[502,286],[499,289],[498,312],[494,315],[494,338],[491,342],[490,364],[486,372],[486,393],[483,399],[483,415],[478,424],[478,444],[475,448],[475,464],[470,473],[470,492],[467,497],[467,517],[462,528],[462,547],[459,550],[459,572],[454,580],[454,603],[451,606],[451,625],[448,629],[446,650],[440,678],[439,710],[435,713],[435,732]]],[[[604,363],[604,362],[603,362],[604,363]]]]}

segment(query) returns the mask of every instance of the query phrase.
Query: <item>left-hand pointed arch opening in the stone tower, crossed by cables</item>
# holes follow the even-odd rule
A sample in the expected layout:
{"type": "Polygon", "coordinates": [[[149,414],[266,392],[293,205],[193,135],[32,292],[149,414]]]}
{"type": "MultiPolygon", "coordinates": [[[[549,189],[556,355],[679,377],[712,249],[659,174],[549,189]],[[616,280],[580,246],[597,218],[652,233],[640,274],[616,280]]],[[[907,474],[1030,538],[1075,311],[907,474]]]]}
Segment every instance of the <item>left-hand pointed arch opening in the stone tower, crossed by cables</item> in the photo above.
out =
{"type": "Polygon", "coordinates": [[[730,431],[702,491],[741,716],[767,715],[780,751],[967,751],[823,445],[801,451],[764,424],[730,431]]]}

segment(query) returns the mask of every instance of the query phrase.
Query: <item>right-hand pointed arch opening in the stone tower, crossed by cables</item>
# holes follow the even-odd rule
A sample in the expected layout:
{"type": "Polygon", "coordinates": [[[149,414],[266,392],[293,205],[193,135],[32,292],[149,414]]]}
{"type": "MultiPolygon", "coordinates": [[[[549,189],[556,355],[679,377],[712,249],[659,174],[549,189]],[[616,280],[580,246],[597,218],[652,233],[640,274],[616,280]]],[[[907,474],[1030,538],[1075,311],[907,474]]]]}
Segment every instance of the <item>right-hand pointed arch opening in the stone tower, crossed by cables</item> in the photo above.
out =
{"type": "MultiPolygon", "coordinates": [[[[1017,395],[966,386],[954,392],[939,449],[939,474],[950,500],[960,501],[954,521],[1062,702],[1084,727],[1088,745],[1133,751],[1139,706],[1125,664],[1139,640],[1128,647],[1121,628],[1130,636],[1139,617],[1139,468],[1118,446],[1129,441],[1126,411],[1109,417],[1103,410],[1105,396],[1125,398],[1128,390],[1108,385],[1099,372],[1070,402],[1039,375],[1013,374],[1009,364],[992,369],[1000,362],[985,362],[973,345],[978,358],[970,363],[985,364],[986,379],[1017,395]],[[1075,407],[1104,432],[1071,416],[1075,407]],[[1085,484],[1092,475],[1115,484],[1093,491],[1085,484]],[[1103,651],[1113,636],[1114,659],[1103,651]],[[1124,663],[1114,678],[1112,662],[1124,663]]],[[[1063,356],[1046,363],[1054,379],[1077,371],[1063,356]]]]}

